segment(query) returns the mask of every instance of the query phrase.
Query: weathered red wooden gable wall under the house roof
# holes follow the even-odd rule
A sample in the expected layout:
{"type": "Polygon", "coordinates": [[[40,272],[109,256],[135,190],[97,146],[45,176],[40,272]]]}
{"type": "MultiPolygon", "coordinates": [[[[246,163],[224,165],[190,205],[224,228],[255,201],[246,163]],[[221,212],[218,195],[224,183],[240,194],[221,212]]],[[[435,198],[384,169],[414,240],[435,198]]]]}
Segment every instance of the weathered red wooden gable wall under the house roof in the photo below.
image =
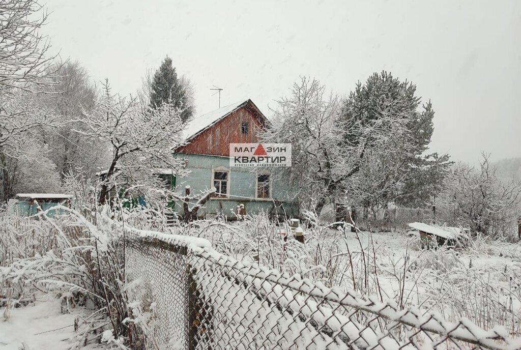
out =
{"type": "Polygon", "coordinates": [[[247,103],[219,120],[189,141],[188,145],[177,149],[179,153],[230,156],[230,143],[258,143],[265,126],[264,116],[251,103],[247,103]],[[242,122],[248,122],[248,133],[242,134],[242,122]]]}

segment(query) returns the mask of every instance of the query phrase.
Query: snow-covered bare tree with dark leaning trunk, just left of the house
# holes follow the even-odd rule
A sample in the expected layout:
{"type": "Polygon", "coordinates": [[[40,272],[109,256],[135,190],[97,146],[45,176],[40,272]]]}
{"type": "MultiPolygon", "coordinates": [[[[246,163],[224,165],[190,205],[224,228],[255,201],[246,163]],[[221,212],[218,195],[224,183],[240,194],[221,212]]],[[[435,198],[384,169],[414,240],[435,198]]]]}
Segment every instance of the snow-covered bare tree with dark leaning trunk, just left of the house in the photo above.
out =
{"type": "Polygon", "coordinates": [[[138,98],[113,95],[108,82],[104,84],[101,101],[92,112],[84,111],[83,128],[75,129],[93,142],[111,147],[108,169],[101,174],[100,204],[107,202],[119,176],[151,178],[154,169],[165,168],[184,174],[183,161],[172,156],[172,149],[184,142],[180,113],[170,104],[150,108],[138,98]]]}

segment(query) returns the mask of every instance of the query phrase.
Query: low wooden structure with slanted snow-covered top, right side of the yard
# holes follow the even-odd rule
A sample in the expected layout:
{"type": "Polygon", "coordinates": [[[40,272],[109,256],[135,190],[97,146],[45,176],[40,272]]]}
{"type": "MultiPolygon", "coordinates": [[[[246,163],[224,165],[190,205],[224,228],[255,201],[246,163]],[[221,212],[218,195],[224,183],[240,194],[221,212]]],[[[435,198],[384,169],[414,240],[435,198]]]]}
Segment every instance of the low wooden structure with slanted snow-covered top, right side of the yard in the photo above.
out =
{"type": "Polygon", "coordinates": [[[466,230],[458,227],[432,226],[422,222],[412,222],[408,226],[419,231],[422,248],[444,244],[454,247],[467,239],[466,230]]]}

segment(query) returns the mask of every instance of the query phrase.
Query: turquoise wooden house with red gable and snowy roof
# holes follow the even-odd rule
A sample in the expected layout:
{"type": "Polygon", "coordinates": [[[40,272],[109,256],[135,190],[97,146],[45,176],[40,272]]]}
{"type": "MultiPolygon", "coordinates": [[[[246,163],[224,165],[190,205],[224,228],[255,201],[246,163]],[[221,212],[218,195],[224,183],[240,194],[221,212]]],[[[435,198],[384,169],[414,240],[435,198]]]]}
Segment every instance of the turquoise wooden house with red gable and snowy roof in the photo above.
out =
{"type": "MultiPolygon", "coordinates": [[[[277,217],[299,216],[299,204],[282,179],[269,167],[230,166],[230,143],[257,144],[268,119],[251,99],[234,103],[194,118],[187,124],[187,144],[175,151],[190,173],[177,185],[190,186],[191,193],[216,187],[216,193],[197,212],[198,217],[266,212],[277,217]],[[238,209],[241,210],[238,210],[238,209]]],[[[182,215],[182,205],[176,205],[182,215]]]]}

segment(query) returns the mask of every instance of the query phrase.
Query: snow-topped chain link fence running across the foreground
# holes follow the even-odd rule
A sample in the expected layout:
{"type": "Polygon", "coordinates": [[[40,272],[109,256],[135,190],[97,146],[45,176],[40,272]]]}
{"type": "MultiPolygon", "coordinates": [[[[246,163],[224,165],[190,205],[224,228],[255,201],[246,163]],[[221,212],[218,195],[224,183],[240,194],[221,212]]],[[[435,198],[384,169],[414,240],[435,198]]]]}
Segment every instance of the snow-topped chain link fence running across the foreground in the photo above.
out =
{"type": "Polygon", "coordinates": [[[219,254],[202,239],[127,233],[126,269],[157,349],[521,349],[448,322],[219,254]]]}

